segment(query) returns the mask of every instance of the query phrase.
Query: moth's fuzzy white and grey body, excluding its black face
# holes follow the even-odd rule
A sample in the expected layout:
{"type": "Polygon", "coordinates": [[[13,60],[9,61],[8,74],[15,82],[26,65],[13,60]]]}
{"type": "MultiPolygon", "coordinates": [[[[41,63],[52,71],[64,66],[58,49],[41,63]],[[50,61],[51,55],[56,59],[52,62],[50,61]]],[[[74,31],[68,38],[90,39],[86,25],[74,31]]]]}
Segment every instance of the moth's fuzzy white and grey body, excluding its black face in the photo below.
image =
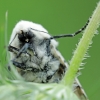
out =
{"type": "MultiPolygon", "coordinates": [[[[17,69],[27,81],[40,83],[59,82],[68,65],[56,49],[58,43],[54,39],[50,40],[51,36],[49,34],[38,32],[31,28],[47,32],[41,25],[28,21],[20,21],[15,26],[9,43],[11,43],[11,46],[21,49],[26,42],[19,40],[18,34],[22,34],[21,31],[23,33],[31,31],[34,37],[31,39],[28,49],[30,55],[22,53],[20,57],[16,58],[18,53],[11,52],[11,60],[14,59],[14,61],[22,63],[25,69],[17,69]],[[15,36],[16,38],[14,39],[15,36]]],[[[19,65],[16,67],[19,67],[19,65]]]]}

